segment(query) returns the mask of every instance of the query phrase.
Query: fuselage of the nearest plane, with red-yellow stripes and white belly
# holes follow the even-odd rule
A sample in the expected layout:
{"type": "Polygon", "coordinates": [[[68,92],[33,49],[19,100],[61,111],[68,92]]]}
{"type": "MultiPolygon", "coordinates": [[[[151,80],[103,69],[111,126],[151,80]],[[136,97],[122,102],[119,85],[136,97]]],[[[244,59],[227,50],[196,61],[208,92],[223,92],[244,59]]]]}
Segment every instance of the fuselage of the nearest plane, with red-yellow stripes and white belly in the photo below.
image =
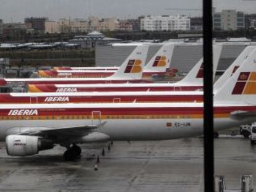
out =
{"type": "MultiPolygon", "coordinates": [[[[38,128],[40,131],[40,128],[67,127],[86,129],[88,125],[101,123],[102,126],[93,131],[105,133],[111,140],[121,141],[171,140],[203,133],[203,108],[202,104],[198,103],[134,104],[136,108],[132,109],[130,109],[130,106],[133,106],[131,104],[122,104],[120,108],[118,107],[120,104],[103,104],[103,108],[99,104],[51,104],[50,108],[42,107],[46,106],[45,104],[27,106],[26,108],[25,105],[12,105],[12,109],[3,109],[0,106],[1,141],[4,141],[7,135],[17,134],[17,130],[38,128]],[[147,109],[146,106],[150,108],[147,109]],[[73,112],[65,111],[69,107],[72,107],[73,112]],[[88,113],[79,114],[79,111],[83,113],[83,109],[88,113]]],[[[215,129],[222,130],[254,122],[255,117],[243,120],[231,118],[231,112],[245,109],[256,111],[256,106],[216,106],[215,129]]]]}

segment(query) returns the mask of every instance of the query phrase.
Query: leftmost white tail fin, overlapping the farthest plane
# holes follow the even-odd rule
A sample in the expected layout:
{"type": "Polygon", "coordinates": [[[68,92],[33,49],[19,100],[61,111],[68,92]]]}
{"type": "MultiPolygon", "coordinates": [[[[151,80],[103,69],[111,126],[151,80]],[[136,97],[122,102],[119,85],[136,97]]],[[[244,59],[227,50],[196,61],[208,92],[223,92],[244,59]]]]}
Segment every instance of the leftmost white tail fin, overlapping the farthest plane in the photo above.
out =
{"type": "Polygon", "coordinates": [[[147,45],[138,45],[119,69],[108,78],[141,79],[147,52],[147,45]]]}

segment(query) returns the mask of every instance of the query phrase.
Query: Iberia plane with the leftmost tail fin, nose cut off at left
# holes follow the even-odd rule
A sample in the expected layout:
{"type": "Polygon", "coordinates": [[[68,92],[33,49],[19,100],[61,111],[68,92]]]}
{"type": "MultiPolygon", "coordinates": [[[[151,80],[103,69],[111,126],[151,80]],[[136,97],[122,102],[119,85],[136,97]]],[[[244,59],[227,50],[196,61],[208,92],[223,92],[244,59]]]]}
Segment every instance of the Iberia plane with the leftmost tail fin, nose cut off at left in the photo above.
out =
{"type": "Polygon", "coordinates": [[[140,45],[123,62],[116,72],[106,78],[2,78],[0,85],[7,83],[33,83],[33,84],[97,84],[97,83],[151,83],[142,80],[142,69],[147,57],[148,46],[140,45]],[[132,59],[131,59],[132,58],[132,59]]]}

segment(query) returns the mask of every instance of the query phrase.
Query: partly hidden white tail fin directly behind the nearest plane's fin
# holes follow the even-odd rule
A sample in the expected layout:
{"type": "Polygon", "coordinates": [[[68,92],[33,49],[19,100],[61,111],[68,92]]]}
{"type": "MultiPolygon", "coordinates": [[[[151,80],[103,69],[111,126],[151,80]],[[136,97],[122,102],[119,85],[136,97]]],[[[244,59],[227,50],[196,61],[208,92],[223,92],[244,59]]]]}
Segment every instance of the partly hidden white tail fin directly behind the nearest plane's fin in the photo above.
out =
{"type": "Polygon", "coordinates": [[[240,65],[248,58],[249,54],[254,51],[256,46],[247,46],[244,51],[237,57],[237,59],[231,64],[228,69],[221,75],[221,77],[214,83],[214,92],[218,93],[221,87],[226,81],[233,75],[234,72],[240,67],[240,65]]]}

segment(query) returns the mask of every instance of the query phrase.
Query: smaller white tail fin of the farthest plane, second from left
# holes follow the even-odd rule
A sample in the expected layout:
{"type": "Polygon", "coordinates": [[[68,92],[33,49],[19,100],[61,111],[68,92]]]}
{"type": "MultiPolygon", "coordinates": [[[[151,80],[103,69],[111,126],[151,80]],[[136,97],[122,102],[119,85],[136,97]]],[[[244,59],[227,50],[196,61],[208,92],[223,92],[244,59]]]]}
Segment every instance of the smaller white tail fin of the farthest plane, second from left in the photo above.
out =
{"type": "Polygon", "coordinates": [[[146,72],[166,72],[173,56],[174,44],[164,44],[144,67],[146,72]]]}

